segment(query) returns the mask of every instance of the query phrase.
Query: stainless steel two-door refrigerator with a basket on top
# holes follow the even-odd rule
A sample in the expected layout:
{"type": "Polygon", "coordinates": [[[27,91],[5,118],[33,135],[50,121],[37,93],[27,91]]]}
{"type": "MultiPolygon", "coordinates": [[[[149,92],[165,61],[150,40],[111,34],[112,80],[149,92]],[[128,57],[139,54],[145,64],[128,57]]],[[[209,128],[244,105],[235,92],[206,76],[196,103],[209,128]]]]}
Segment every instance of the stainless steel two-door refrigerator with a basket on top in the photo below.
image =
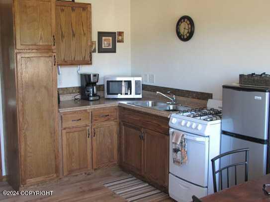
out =
{"type": "MultiPolygon", "coordinates": [[[[221,153],[249,148],[248,180],[269,173],[270,88],[224,85],[222,100],[221,153]]],[[[244,159],[243,153],[226,157],[220,162],[221,166],[225,166],[244,159]]],[[[237,169],[237,183],[244,182],[244,171],[244,166],[237,169]]],[[[229,171],[231,185],[234,184],[234,172],[234,168],[229,171]]],[[[227,172],[223,178],[227,178],[227,172]]]]}

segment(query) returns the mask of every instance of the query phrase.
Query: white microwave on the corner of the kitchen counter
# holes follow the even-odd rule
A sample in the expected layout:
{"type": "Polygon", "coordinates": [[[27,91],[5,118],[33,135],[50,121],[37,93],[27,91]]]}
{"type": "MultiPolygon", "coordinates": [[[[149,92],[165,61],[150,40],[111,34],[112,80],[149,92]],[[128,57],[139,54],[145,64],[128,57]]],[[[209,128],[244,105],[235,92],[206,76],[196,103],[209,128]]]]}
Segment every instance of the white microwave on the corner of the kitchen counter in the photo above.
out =
{"type": "Polygon", "coordinates": [[[142,98],[142,77],[105,76],[105,98],[142,98]]]}

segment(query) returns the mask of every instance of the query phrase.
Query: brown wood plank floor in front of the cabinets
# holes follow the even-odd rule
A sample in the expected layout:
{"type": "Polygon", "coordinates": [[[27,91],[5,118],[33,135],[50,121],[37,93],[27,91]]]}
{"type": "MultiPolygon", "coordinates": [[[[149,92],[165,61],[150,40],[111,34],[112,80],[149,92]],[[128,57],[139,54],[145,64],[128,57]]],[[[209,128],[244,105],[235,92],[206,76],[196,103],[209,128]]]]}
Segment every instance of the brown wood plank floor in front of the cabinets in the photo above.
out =
{"type": "MultiPolygon", "coordinates": [[[[67,177],[58,182],[25,189],[25,191],[53,191],[52,196],[3,196],[3,202],[125,202],[123,198],[105,188],[102,182],[114,180],[127,175],[119,167],[102,168],[90,176],[79,175],[67,177]]],[[[3,190],[12,190],[6,183],[0,183],[0,193],[3,190]]],[[[161,198],[151,201],[151,198],[143,202],[173,202],[171,199],[161,198]]]]}

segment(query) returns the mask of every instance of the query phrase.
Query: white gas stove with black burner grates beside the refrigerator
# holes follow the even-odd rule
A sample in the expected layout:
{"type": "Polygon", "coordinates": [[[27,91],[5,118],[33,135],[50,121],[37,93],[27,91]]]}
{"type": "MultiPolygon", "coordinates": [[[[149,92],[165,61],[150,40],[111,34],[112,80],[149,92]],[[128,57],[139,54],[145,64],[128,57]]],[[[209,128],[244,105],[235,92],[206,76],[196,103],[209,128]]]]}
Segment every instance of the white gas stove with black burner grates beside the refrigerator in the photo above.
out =
{"type": "Polygon", "coordinates": [[[184,110],[170,118],[169,195],[178,202],[189,202],[192,195],[201,198],[214,192],[211,159],[220,154],[221,105],[221,101],[209,100],[207,109],[184,110]],[[187,142],[187,164],[180,166],[173,162],[175,131],[183,132],[187,142]]]}

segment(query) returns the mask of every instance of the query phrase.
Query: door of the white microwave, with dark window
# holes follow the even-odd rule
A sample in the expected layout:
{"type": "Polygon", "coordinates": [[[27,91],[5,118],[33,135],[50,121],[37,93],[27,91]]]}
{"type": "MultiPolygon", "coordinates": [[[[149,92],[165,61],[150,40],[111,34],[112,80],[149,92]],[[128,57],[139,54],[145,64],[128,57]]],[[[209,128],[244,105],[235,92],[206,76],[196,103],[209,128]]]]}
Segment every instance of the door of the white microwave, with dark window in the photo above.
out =
{"type": "Polygon", "coordinates": [[[116,77],[105,80],[105,98],[133,98],[133,79],[116,77]]]}

